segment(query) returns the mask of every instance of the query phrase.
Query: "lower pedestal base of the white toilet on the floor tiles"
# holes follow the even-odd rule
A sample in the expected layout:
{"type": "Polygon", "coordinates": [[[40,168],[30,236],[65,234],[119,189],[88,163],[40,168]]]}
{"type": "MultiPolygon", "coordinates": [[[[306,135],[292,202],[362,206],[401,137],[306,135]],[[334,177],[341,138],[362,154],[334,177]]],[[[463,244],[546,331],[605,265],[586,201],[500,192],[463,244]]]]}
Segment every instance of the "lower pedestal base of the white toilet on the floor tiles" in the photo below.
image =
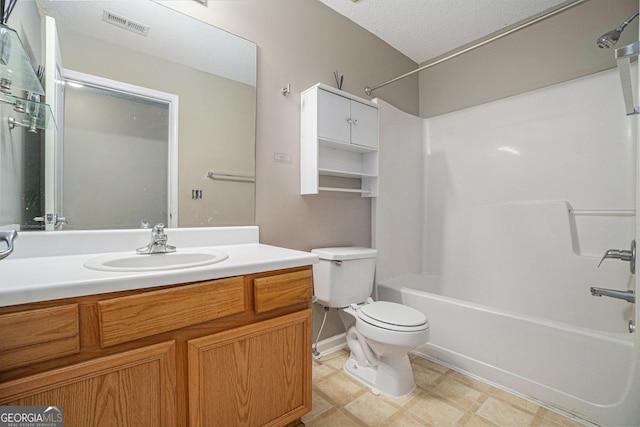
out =
{"type": "Polygon", "coordinates": [[[351,355],[344,364],[344,371],[355,380],[375,391],[391,396],[402,397],[416,388],[409,356],[380,357],[375,366],[360,366],[351,355]]]}

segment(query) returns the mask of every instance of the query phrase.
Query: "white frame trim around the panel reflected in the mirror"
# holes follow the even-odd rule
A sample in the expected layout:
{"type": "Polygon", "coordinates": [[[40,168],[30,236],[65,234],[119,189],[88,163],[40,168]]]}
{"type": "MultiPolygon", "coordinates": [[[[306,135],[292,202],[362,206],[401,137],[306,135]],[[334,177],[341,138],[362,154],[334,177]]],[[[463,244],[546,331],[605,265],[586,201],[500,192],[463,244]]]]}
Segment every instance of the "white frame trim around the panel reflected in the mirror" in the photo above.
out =
{"type": "Polygon", "coordinates": [[[104,77],[94,76],[91,74],[81,73],[79,71],[64,69],[65,80],[75,80],[92,86],[106,87],[109,89],[133,93],[137,96],[166,102],[169,104],[169,151],[168,151],[168,169],[167,174],[167,202],[169,221],[168,227],[175,228],[178,226],[178,104],[179,96],[161,92],[155,89],[149,89],[142,86],[136,86],[129,83],[110,80],[104,77]]]}

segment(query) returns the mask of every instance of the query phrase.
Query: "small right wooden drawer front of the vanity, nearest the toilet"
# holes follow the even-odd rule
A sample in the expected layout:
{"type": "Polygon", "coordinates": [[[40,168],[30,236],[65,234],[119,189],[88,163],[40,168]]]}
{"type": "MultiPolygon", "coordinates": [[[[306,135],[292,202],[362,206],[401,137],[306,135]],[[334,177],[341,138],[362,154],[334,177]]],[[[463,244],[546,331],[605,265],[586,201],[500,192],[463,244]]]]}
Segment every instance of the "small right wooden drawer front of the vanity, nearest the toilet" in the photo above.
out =
{"type": "Polygon", "coordinates": [[[274,310],[311,300],[313,273],[303,271],[259,277],[253,281],[254,310],[256,313],[274,310]]]}

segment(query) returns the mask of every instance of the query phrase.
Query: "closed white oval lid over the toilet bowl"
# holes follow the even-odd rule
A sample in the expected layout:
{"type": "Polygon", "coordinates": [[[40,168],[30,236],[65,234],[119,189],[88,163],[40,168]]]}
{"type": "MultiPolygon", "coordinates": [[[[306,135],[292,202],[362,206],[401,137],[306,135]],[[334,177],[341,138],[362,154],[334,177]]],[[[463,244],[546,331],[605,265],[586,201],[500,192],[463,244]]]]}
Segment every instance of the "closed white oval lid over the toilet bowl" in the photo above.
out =
{"type": "Polygon", "coordinates": [[[358,310],[358,317],[367,323],[387,329],[424,328],[427,317],[415,308],[388,301],[366,304],[358,310]]]}

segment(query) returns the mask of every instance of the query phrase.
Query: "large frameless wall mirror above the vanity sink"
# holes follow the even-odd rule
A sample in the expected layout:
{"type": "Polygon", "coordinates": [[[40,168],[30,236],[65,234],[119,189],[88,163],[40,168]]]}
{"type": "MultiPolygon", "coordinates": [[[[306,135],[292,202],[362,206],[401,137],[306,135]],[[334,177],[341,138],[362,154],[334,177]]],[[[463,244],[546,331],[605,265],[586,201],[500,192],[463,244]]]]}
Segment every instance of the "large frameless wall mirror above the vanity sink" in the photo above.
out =
{"type": "MultiPolygon", "coordinates": [[[[87,96],[73,96],[84,102],[80,106],[70,107],[65,101],[64,116],[81,111],[86,117],[56,117],[62,128],[62,137],[58,138],[62,144],[55,162],[53,197],[61,205],[55,214],[66,220],[56,229],[137,228],[146,222],[179,227],[255,223],[254,43],[151,0],[32,3],[34,8],[38,3],[41,13],[55,18],[65,74],[141,87],[177,99],[171,107],[177,117],[173,153],[168,142],[149,142],[158,134],[167,134],[166,129],[153,128],[154,123],[167,126],[166,120],[155,120],[156,116],[171,116],[164,107],[123,113],[123,104],[105,101],[117,98],[118,89],[102,96],[100,108],[98,101],[87,101],[94,99],[87,96]],[[105,112],[107,104],[116,105],[117,114],[105,112]],[[152,116],[153,120],[144,120],[152,116]],[[122,131],[119,124],[126,120],[132,126],[122,131]],[[125,144],[125,139],[142,140],[146,145],[134,147],[125,144]],[[72,152],[73,147],[84,151],[72,152]],[[124,151],[116,154],[117,147],[124,147],[124,151]],[[127,150],[131,150],[131,156],[127,150]],[[124,167],[127,162],[130,164],[124,167]],[[85,175],[78,174],[79,164],[85,175]],[[154,169],[166,170],[147,177],[147,172],[154,169]],[[157,198],[159,202],[150,203],[139,195],[165,189],[167,194],[157,198]]],[[[96,85],[86,86],[93,94],[98,92],[96,85]]],[[[69,87],[67,90],[72,92],[69,87]]],[[[129,94],[124,98],[130,101],[129,94]]],[[[24,174],[28,176],[29,171],[24,174]]],[[[38,185],[33,185],[46,185],[44,167],[36,174],[25,178],[32,184],[23,190],[22,230],[42,229],[32,217],[44,212],[35,215],[39,204],[32,202],[44,197],[36,194],[38,185]]],[[[0,227],[12,222],[16,221],[0,217],[0,227]]]]}

